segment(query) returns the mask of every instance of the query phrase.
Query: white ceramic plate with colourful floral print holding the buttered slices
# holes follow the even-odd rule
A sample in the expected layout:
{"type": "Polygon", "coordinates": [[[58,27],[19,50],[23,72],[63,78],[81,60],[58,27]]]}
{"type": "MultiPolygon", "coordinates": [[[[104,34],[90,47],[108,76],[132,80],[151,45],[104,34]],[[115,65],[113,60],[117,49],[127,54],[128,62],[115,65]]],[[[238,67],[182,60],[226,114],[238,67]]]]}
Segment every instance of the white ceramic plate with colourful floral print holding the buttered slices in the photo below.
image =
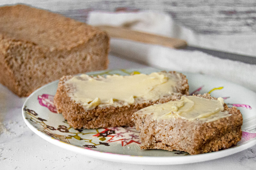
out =
{"type": "MultiPolygon", "coordinates": [[[[121,74],[133,71],[151,73],[157,69],[110,70],[89,75],[121,74]]],[[[140,150],[139,133],[134,127],[76,130],[68,125],[61,114],[56,113],[53,96],[58,81],[44,85],[33,92],[22,108],[28,127],[48,142],[93,158],[148,165],[171,165],[201,162],[225,157],[243,151],[256,144],[256,93],[225,80],[200,74],[184,73],[188,78],[189,92],[207,93],[223,97],[229,107],[237,106],[243,114],[243,137],[232,148],[218,152],[189,155],[187,152],[164,150],[140,150]]]]}

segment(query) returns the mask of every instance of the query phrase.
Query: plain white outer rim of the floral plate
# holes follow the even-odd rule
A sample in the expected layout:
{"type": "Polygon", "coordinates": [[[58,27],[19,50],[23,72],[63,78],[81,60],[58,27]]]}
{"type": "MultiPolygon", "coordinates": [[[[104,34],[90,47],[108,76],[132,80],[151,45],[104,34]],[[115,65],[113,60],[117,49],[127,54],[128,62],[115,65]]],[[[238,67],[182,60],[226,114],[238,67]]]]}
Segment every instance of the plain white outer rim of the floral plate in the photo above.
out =
{"type": "MultiPolygon", "coordinates": [[[[140,69],[126,69],[126,70],[160,70],[156,68],[140,68],[140,69]]],[[[112,69],[111,71],[117,71],[121,69],[112,69]]],[[[86,74],[90,73],[100,73],[104,71],[110,71],[110,70],[101,70],[101,71],[91,71],[87,72],[86,74]]],[[[182,72],[183,73],[183,72],[182,72]]],[[[184,72],[185,73],[185,72],[184,72]]],[[[200,73],[191,73],[191,72],[186,72],[188,74],[199,74],[200,73]]],[[[185,74],[186,74],[185,73],[185,74]]],[[[216,78],[216,77],[211,77],[211,78],[216,78]]],[[[223,80],[221,78],[216,78],[223,80]]],[[[227,81],[227,80],[225,80],[227,81]]],[[[39,137],[43,138],[47,142],[50,142],[51,144],[54,144],[60,148],[76,152],[88,157],[96,158],[96,159],[102,159],[102,160],[107,160],[107,161],[113,161],[113,162],[121,162],[121,163],[131,163],[131,164],[141,164],[141,165],[178,165],[178,164],[188,164],[188,163],[197,163],[197,162],[203,162],[203,161],[208,161],[208,160],[214,160],[214,159],[219,159],[223,158],[232,154],[235,154],[237,152],[244,151],[245,149],[252,147],[253,145],[256,144],[256,137],[250,139],[249,141],[246,141],[245,143],[242,143],[238,146],[234,146],[228,149],[220,150],[217,152],[208,152],[204,154],[197,154],[197,155],[187,155],[187,156],[179,156],[179,157],[167,157],[167,156],[134,156],[134,155],[123,155],[123,154],[116,154],[116,153],[109,153],[109,152],[100,152],[100,151],[95,151],[95,150],[89,150],[89,149],[84,149],[83,147],[75,146],[73,144],[68,144],[65,142],[62,142],[58,139],[54,139],[53,137],[50,137],[43,132],[37,130],[28,120],[25,118],[25,112],[24,112],[24,107],[26,106],[26,103],[28,100],[38,91],[41,89],[45,88],[46,86],[50,86],[52,84],[55,84],[59,82],[59,80],[55,80],[53,82],[50,82],[46,85],[43,85],[42,87],[36,89],[34,92],[32,92],[27,99],[25,100],[23,106],[22,106],[22,117],[26,125],[28,126],[29,129],[31,129],[34,133],[36,133],[39,137]],[[228,151],[228,152],[227,152],[228,151]],[[212,155],[214,154],[214,157],[212,155]],[[203,156],[202,156],[203,155],[203,156]],[[217,156],[216,156],[217,155],[217,156]],[[202,158],[201,158],[202,157],[202,158]],[[127,159],[128,158],[128,159],[127,159]],[[159,160],[160,158],[160,160],[159,160]],[[198,159],[201,158],[201,159],[198,159]],[[171,161],[170,161],[171,160],[171,161]]],[[[229,82],[229,81],[227,81],[229,82]]],[[[235,84],[233,82],[229,82],[231,84],[235,84]]],[[[236,84],[237,85],[237,84],[236,84]]],[[[241,85],[239,85],[241,86],[241,85]]],[[[244,86],[241,86],[245,89],[247,89],[244,86]]],[[[250,90],[250,89],[247,89],[250,90]]],[[[250,90],[252,91],[252,90],[250,90]]],[[[253,91],[252,91],[253,92],[253,91]]],[[[255,93],[255,92],[254,92],[255,93]]]]}

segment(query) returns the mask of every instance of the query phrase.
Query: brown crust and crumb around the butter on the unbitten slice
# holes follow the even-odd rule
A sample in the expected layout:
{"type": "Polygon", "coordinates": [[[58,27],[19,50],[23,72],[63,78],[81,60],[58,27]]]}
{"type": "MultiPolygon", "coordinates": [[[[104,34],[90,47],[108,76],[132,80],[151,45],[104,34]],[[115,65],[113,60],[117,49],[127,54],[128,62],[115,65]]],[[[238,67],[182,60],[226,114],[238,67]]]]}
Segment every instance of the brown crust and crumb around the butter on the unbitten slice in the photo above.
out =
{"type": "MultiPolygon", "coordinates": [[[[175,71],[170,71],[176,74],[175,71]]],[[[62,113],[63,117],[68,121],[68,124],[76,128],[107,128],[116,126],[133,126],[131,116],[134,112],[153,105],[155,103],[165,103],[170,100],[180,99],[182,95],[188,95],[188,80],[185,75],[180,74],[180,81],[176,87],[178,94],[164,96],[156,101],[146,103],[132,103],[129,106],[123,107],[96,107],[92,110],[85,110],[84,107],[72,100],[68,96],[68,92],[72,89],[64,83],[73,76],[64,76],[60,79],[57,92],[54,96],[54,104],[57,107],[58,113],[62,113]]]]}

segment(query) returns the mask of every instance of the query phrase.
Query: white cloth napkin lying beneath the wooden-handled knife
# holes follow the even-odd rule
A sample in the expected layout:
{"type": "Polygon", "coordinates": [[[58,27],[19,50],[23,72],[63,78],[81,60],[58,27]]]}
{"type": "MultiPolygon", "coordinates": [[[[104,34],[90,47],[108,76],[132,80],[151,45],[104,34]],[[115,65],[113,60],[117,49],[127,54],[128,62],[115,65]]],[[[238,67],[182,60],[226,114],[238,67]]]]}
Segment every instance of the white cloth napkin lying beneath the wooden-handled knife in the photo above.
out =
{"type": "MultiPolygon", "coordinates": [[[[88,24],[130,25],[133,30],[177,37],[186,40],[190,45],[218,48],[219,50],[221,49],[214,44],[219,43],[220,47],[222,47],[228,39],[232,39],[232,37],[218,39],[220,35],[197,35],[193,31],[175,24],[169,15],[154,12],[104,13],[93,11],[89,15],[88,24]],[[204,45],[200,45],[203,42],[204,45]]],[[[234,40],[237,43],[240,42],[236,46],[240,48],[247,48],[250,44],[249,42],[246,44],[247,40],[246,42],[243,41],[248,38],[247,36],[236,38],[234,40]]],[[[256,65],[220,59],[200,51],[172,49],[123,39],[111,39],[110,48],[114,54],[125,56],[128,59],[150,66],[180,72],[203,73],[243,85],[256,92],[256,65]]],[[[232,46],[232,48],[234,47],[232,46]]],[[[240,48],[234,49],[234,51],[230,51],[230,48],[228,49],[229,52],[237,53],[240,48]]]]}

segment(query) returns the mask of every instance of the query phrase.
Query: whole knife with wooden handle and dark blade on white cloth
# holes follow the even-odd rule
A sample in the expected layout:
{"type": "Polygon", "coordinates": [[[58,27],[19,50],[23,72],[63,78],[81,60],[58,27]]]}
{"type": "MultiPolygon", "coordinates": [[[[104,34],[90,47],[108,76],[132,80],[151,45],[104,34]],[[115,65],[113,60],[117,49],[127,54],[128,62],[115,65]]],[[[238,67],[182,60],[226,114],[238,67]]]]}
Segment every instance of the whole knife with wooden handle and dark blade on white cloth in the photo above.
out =
{"type": "Polygon", "coordinates": [[[197,51],[202,51],[204,53],[207,53],[222,59],[240,61],[248,64],[256,64],[256,57],[188,46],[186,41],[178,38],[165,37],[161,35],[134,31],[131,29],[116,27],[116,26],[103,25],[103,26],[96,26],[96,27],[107,32],[108,35],[112,38],[121,38],[121,39],[138,41],[143,43],[162,45],[169,48],[185,49],[190,51],[197,50],[197,51]]]}

